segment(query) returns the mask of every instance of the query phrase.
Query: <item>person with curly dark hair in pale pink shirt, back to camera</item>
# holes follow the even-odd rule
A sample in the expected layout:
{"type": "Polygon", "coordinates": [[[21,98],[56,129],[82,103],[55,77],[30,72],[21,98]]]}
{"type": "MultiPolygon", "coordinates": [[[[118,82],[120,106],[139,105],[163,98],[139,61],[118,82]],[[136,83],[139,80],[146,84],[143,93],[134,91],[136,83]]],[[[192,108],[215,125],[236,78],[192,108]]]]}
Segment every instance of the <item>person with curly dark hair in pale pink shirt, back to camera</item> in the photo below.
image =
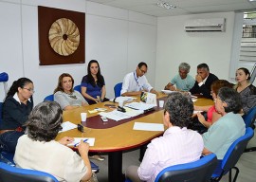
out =
{"type": "Polygon", "coordinates": [[[133,182],[154,182],[156,175],[164,168],[198,160],[204,144],[197,132],[187,129],[192,112],[193,104],[189,96],[179,92],[170,94],[164,105],[163,117],[168,129],[163,137],[151,141],[139,167],[128,167],[126,177],[133,182]]]}

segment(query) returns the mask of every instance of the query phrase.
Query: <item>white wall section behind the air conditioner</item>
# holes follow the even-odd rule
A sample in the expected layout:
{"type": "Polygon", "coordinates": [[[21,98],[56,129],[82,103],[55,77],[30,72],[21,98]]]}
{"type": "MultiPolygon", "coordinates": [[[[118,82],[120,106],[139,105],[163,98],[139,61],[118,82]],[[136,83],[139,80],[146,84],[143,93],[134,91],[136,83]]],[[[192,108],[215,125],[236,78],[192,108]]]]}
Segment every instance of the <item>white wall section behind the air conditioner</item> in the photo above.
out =
{"type": "Polygon", "coordinates": [[[191,64],[192,77],[197,64],[206,63],[219,79],[229,80],[234,12],[205,13],[157,19],[155,87],[163,89],[177,74],[182,62],[191,64]],[[185,32],[190,19],[226,18],[225,32],[185,32]]]}

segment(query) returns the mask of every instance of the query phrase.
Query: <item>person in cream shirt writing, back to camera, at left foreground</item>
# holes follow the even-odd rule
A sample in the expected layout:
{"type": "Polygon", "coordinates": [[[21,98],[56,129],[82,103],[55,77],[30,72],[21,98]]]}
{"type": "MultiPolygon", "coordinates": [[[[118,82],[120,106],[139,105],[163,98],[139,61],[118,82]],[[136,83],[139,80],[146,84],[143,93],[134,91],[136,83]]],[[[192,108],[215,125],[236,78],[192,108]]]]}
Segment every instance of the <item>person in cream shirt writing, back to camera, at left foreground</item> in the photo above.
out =
{"type": "Polygon", "coordinates": [[[55,101],[39,103],[27,120],[27,135],[19,138],[14,161],[20,168],[43,171],[59,181],[85,181],[91,178],[89,144],[81,141],[80,155],[68,148],[72,137],[55,141],[62,130],[63,110],[55,101]]]}

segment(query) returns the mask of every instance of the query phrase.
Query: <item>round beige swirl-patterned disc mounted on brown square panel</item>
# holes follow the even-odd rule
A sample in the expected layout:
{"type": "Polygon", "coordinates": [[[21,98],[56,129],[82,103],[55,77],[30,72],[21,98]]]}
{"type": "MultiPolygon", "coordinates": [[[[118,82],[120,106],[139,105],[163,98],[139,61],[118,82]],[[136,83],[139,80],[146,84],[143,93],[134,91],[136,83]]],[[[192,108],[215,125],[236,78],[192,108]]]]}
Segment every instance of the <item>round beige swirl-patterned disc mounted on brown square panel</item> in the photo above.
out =
{"type": "Polygon", "coordinates": [[[60,18],[49,28],[48,39],[56,53],[69,56],[77,50],[80,44],[79,28],[71,20],[60,18]]]}

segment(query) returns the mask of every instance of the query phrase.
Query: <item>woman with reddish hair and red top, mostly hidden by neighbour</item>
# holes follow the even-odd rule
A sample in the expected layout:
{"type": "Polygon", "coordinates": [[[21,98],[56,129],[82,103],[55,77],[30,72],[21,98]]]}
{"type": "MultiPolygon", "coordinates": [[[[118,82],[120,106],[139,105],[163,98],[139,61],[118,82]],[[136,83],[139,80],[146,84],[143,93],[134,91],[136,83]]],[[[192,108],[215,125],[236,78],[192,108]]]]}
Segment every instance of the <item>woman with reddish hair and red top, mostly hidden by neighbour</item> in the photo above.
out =
{"type": "MultiPolygon", "coordinates": [[[[229,87],[232,88],[233,84],[226,81],[226,80],[218,80],[215,82],[212,82],[210,85],[210,95],[213,100],[216,99],[219,89],[222,87],[229,87]]],[[[201,114],[197,113],[198,120],[206,127],[209,128],[213,122],[215,122],[217,119],[221,118],[221,115],[216,112],[214,105],[207,105],[207,106],[194,106],[195,111],[205,111],[207,112],[207,120],[206,118],[201,114]]]]}

